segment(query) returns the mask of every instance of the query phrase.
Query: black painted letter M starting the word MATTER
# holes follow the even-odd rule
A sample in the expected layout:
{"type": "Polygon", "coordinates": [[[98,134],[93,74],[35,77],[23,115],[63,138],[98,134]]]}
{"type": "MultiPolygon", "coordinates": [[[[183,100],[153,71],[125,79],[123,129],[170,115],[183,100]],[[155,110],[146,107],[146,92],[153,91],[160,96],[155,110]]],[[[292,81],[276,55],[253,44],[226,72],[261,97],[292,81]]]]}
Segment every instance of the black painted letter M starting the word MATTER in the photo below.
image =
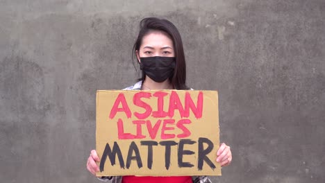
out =
{"type": "Polygon", "coordinates": [[[113,145],[113,150],[111,150],[110,145],[106,143],[105,150],[103,151],[103,155],[101,156],[101,163],[99,164],[99,170],[101,172],[103,171],[107,157],[110,158],[110,164],[112,164],[112,166],[115,165],[116,155],[119,158],[119,166],[121,166],[121,168],[124,168],[124,160],[122,157],[121,150],[119,149],[119,145],[117,145],[115,141],[113,145]]]}

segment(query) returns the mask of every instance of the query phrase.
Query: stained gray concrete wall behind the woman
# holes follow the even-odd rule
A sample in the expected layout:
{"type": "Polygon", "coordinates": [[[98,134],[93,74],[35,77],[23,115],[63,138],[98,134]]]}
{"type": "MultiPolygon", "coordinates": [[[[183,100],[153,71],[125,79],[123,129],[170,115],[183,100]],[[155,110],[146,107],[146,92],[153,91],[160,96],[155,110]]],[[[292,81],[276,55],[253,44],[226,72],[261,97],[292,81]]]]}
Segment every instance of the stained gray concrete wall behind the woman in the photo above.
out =
{"type": "Polygon", "coordinates": [[[149,16],[179,28],[190,87],[219,91],[214,182],[325,182],[324,0],[1,0],[0,182],[99,182],[95,92],[135,82],[149,16]]]}

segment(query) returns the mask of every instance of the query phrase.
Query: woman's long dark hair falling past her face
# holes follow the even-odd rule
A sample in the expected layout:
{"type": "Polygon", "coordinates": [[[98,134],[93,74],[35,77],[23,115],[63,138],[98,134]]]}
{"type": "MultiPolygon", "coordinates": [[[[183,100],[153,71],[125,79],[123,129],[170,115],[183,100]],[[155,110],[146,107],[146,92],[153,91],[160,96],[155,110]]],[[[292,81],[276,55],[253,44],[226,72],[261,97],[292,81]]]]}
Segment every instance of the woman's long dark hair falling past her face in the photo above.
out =
{"type": "MultiPolygon", "coordinates": [[[[175,58],[176,58],[176,66],[174,69],[174,76],[169,78],[170,82],[174,89],[189,89],[186,86],[186,64],[185,64],[185,55],[183,50],[183,42],[181,35],[179,34],[176,26],[167,19],[158,19],[155,17],[149,17],[142,19],[140,21],[140,31],[135,44],[133,45],[132,50],[132,60],[134,64],[134,59],[138,60],[136,51],[140,50],[140,46],[142,44],[142,38],[149,34],[153,30],[163,31],[166,33],[173,41],[174,50],[175,50],[175,58]]],[[[139,62],[138,62],[139,63],[139,62]]],[[[142,71],[142,78],[139,80],[144,81],[146,75],[144,71],[142,71]]]]}

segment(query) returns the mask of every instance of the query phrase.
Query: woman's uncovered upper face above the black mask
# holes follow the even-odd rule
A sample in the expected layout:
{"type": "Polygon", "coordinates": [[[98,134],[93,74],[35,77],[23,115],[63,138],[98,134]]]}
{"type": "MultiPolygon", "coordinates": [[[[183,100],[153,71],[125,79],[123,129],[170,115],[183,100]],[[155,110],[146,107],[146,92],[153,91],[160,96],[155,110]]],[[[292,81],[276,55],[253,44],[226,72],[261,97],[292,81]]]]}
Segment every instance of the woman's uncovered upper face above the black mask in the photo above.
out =
{"type": "Polygon", "coordinates": [[[136,51],[138,60],[146,57],[174,57],[173,41],[161,31],[153,31],[142,38],[139,51],[136,51]]]}

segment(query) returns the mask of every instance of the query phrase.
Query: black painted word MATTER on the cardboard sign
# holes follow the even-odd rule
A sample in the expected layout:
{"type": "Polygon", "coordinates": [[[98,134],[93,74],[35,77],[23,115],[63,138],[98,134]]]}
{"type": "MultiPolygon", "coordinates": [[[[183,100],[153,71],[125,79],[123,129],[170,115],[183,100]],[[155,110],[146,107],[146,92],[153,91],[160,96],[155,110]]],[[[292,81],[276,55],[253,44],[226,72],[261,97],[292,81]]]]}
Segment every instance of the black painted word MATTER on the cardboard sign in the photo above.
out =
{"type": "MultiPolygon", "coordinates": [[[[194,145],[197,143],[198,148],[198,161],[197,168],[199,171],[202,170],[203,162],[206,162],[210,168],[215,169],[215,165],[211,160],[206,156],[213,150],[213,142],[207,138],[199,138],[197,141],[192,141],[191,139],[181,139],[178,143],[176,141],[140,141],[140,146],[147,146],[147,168],[151,169],[153,164],[153,146],[165,146],[165,168],[168,170],[170,166],[170,156],[172,154],[172,146],[177,146],[177,160],[179,168],[193,167],[194,165],[190,162],[183,162],[183,155],[194,155],[192,150],[185,150],[185,145],[194,145]],[[206,145],[205,145],[206,144],[206,145]],[[207,146],[204,148],[204,146],[207,146]]],[[[103,156],[101,157],[101,162],[99,169],[102,172],[107,157],[110,159],[110,164],[115,165],[116,157],[119,159],[119,166],[121,168],[130,168],[131,161],[135,160],[138,164],[138,168],[142,168],[142,157],[138,145],[132,141],[128,148],[128,155],[126,157],[126,164],[124,163],[124,158],[122,156],[121,149],[119,148],[118,143],[115,141],[113,148],[110,148],[110,145],[106,143],[105,150],[103,151],[103,156]],[[134,155],[133,155],[134,154],[134,155]]]]}

